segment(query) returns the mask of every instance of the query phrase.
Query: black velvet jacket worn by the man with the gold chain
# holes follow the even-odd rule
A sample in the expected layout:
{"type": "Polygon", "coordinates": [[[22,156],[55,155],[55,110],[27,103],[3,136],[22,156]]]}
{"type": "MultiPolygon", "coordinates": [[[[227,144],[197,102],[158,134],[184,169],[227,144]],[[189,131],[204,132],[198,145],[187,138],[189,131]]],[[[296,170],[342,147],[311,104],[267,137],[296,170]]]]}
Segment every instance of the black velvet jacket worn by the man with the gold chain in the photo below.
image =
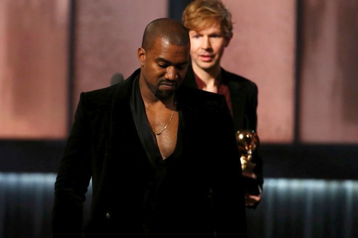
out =
{"type": "Polygon", "coordinates": [[[119,85],[81,94],[55,183],[55,237],[81,236],[90,178],[91,220],[85,237],[210,237],[213,230],[218,237],[245,237],[239,152],[225,98],[185,85],[177,92],[182,154],[171,162],[159,188],[154,235],[143,234],[143,191],[155,168],[129,104],[139,72],[119,85]],[[212,208],[206,202],[208,188],[212,208]]]}

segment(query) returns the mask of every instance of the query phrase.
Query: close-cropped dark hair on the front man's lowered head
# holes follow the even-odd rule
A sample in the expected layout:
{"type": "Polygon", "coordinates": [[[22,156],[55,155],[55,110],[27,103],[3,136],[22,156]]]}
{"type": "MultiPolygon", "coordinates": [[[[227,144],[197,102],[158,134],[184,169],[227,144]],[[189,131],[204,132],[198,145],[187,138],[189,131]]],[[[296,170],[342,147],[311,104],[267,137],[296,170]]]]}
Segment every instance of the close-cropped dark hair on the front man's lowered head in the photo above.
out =
{"type": "Polygon", "coordinates": [[[150,51],[157,38],[177,46],[190,44],[187,29],[178,21],[170,18],[156,19],[147,25],[143,35],[142,48],[145,51],[150,51]]]}

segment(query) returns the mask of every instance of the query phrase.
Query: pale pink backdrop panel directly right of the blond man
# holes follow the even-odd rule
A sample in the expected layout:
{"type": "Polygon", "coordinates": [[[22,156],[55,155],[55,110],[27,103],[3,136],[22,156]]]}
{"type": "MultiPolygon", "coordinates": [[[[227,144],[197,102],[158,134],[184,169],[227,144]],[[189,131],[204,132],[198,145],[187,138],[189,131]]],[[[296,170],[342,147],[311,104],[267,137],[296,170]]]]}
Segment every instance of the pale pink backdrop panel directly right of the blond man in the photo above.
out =
{"type": "Polygon", "coordinates": [[[290,143],[294,129],[295,0],[223,0],[234,29],[223,67],[259,87],[262,142],[290,143]]]}

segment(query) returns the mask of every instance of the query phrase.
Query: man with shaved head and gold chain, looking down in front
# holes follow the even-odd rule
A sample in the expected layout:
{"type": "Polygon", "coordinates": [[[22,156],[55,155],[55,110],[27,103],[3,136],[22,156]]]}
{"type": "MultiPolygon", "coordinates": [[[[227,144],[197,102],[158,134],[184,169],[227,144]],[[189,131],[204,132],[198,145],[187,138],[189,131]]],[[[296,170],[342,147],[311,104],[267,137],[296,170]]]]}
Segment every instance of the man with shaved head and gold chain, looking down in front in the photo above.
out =
{"type": "Polygon", "coordinates": [[[140,68],[81,94],[55,183],[55,238],[246,237],[230,111],[224,96],[181,85],[189,50],[183,25],[154,20],[138,49],[140,68]]]}

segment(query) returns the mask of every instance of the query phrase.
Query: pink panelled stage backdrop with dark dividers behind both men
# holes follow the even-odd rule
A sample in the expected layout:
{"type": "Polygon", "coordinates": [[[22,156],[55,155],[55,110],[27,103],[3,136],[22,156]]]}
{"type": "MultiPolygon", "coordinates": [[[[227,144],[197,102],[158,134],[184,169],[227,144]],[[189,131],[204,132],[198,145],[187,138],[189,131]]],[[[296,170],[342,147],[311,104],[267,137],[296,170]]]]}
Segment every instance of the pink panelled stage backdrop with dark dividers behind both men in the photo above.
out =
{"type": "MultiPolygon", "coordinates": [[[[138,68],[146,24],[179,18],[175,2],[0,1],[0,138],[65,139],[80,93],[138,68]]],[[[259,86],[261,141],[356,144],[357,1],[223,2],[223,66],[259,86]]]]}

